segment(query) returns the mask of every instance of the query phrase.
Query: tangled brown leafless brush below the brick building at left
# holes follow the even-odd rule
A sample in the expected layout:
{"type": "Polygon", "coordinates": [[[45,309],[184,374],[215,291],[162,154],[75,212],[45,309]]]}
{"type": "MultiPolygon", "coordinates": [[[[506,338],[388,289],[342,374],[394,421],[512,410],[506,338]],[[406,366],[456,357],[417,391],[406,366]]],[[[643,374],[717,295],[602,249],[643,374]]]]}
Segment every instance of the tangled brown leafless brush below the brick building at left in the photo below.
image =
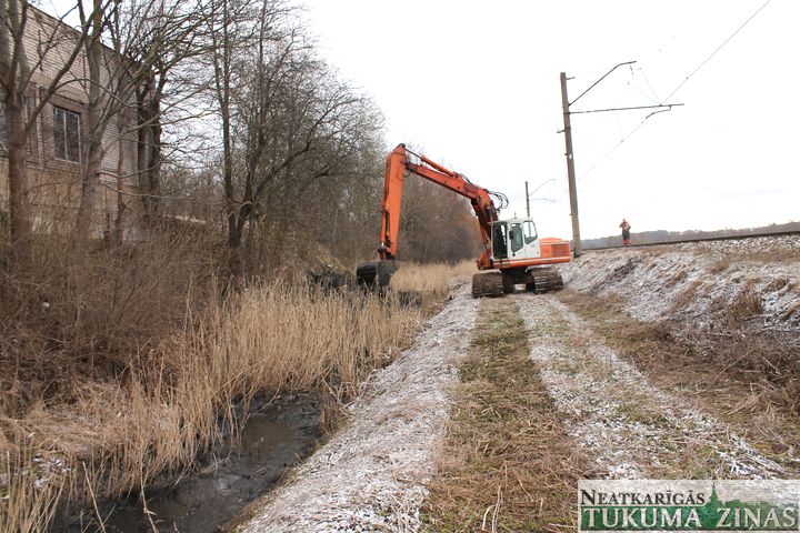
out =
{"type": "Polygon", "coordinates": [[[81,384],[116,382],[151,363],[187,311],[220,292],[209,248],[166,233],[81,251],[52,235],[37,243],[30,272],[0,270],[0,413],[18,418],[40,401],[63,403],[81,384]]]}

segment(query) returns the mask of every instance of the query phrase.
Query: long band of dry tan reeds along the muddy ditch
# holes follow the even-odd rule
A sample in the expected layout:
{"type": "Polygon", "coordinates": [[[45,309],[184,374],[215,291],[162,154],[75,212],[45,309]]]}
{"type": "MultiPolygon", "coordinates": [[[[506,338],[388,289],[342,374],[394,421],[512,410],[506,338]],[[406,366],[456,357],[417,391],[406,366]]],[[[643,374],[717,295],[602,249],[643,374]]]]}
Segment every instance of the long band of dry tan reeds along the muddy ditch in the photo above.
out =
{"type": "MultiPolygon", "coordinates": [[[[356,393],[421,323],[419,310],[389,298],[326,295],[281,282],[252,288],[210,315],[189,320],[197,329],[154,348],[153,363],[131,369],[124,382],[83,384],[69,405],[39,404],[24,416],[3,416],[3,433],[27,438],[37,457],[52,450],[50,455],[70,465],[91,465],[88,472],[73,470],[73,499],[140,492],[190,467],[220,442],[223,428],[237,431],[242,421],[234,405],[247,405],[260,392],[324,388],[339,400],[356,393]]],[[[3,479],[22,476],[27,483],[3,483],[7,502],[50,503],[33,489],[47,476],[18,466],[9,464],[3,479]]],[[[14,531],[8,527],[18,520],[18,505],[0,507],[8,512],[2,531],[14,531]]]]}

